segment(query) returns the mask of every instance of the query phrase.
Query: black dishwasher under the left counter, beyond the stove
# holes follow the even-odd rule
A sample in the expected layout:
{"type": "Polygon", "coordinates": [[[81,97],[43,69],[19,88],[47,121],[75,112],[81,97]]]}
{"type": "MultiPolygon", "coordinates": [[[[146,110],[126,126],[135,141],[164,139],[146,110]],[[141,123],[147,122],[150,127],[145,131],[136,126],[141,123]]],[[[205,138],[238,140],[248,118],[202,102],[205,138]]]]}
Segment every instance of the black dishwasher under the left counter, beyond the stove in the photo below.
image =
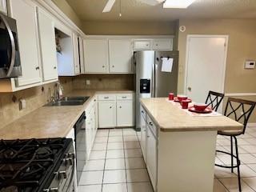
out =
{"type": "Polygon", "coordinates": [[[79,183],[82,171],[86,165],[86,113],[83,112],[74,125],[75,152],[77,163],[77,182],[79,183]]]}

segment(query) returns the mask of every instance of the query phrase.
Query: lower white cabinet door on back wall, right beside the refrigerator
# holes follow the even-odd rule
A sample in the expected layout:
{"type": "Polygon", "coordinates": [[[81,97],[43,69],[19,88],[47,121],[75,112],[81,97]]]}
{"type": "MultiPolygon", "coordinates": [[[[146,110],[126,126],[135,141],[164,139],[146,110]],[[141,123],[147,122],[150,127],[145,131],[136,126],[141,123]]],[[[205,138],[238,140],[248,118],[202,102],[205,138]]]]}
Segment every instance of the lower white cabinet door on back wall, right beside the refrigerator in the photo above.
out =
{"type": "Polygon", "coordinates": [[[134,126],[132,100],[117,101],[117,126],[134,126]]]}

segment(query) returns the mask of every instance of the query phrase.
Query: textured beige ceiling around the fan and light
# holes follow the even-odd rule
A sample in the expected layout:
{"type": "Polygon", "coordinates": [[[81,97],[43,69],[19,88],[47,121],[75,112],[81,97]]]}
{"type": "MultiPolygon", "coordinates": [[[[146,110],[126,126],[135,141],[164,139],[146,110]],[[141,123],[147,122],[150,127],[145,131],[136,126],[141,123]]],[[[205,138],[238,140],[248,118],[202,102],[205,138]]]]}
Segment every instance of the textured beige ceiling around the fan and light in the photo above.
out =
{"type": "MultiPolygon", "coordinates": [[[[256,18],[256,0],[196,0],[188,9],[162,9],[142,0],[122,0],[122,18],[116,0],[110,13],[102,14],[107,0],[66,0],[84,21],[172,21],[178,18],[256,18]]],[[[179,0],[177,0],[179,1],[179,0]]]]}

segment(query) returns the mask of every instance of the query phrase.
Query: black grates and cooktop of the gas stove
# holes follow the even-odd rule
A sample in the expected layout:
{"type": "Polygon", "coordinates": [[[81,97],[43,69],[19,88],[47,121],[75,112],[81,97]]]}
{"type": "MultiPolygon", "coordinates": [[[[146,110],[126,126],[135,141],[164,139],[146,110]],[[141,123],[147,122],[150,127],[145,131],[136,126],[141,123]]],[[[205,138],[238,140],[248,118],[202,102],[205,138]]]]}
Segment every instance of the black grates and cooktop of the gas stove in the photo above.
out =
{"type": "Polygon", "coordinates": [[[67,146],[66,138],[0,141],[0,192],[37,191],[67,146]]]}

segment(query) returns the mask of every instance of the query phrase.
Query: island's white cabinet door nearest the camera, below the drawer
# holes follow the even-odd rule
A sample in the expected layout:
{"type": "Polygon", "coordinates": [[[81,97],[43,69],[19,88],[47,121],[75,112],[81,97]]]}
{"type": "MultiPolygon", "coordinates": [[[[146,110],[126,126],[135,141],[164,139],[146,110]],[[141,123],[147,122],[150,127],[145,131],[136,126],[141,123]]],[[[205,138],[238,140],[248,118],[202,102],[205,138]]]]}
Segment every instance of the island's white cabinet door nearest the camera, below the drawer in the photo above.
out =
{"type": "Polygon", "coordinates": [[[147,126],[147,137],[146,137],[146,168],[150,175],[151,183],[156,189],[156,181],[157,181],[157,140],[154,138],[154,134],[150,130],[149,126],[147,126]]]}

